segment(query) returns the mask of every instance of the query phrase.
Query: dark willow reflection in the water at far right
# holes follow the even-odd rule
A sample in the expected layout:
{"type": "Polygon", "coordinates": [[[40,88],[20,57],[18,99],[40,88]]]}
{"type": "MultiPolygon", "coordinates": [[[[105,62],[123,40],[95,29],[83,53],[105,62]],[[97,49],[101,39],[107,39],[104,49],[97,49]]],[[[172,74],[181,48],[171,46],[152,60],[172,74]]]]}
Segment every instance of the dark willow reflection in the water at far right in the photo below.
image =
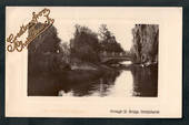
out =
{"type": "Polygon", "coordinates": [[[158,96],[158,66],[135,66],[131,69],[133,76],[133,96],[158,96]]]}

